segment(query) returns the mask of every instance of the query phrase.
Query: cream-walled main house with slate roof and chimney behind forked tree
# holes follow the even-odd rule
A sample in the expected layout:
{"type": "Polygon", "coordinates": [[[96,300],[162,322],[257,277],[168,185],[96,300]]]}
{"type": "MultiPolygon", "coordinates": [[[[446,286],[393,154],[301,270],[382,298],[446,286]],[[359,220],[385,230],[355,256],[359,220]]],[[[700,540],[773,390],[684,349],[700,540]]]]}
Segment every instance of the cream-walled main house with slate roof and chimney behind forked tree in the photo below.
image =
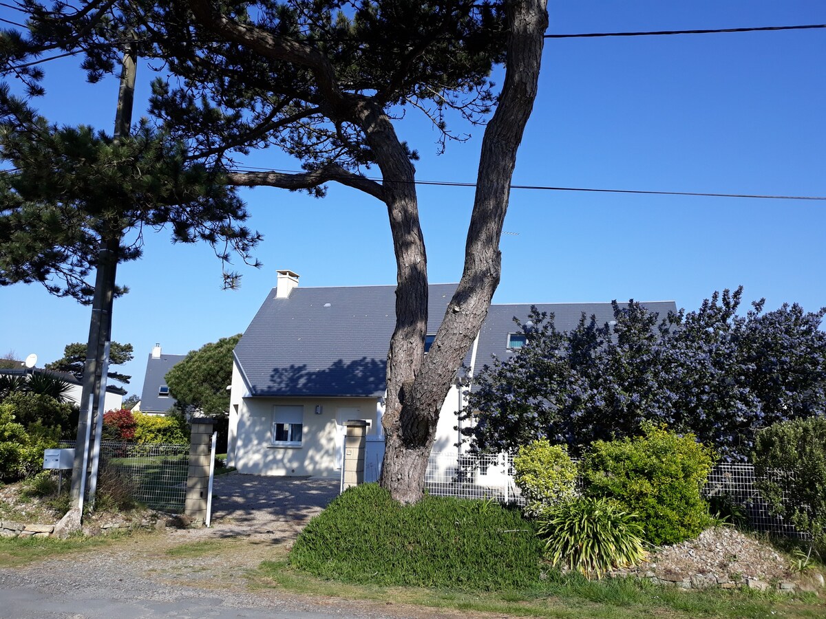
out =
{"type": "MultiPolygon", "coordinates": [[[[425,351],[456,284],[431,284],[425,351]]],[[[572,329],[583,312],[609,322],[610,303],[534,304],[553,312],[559,329],[572,329]]],[[[643,303],[665,316],[673,301],[643,303]]],[[[509,357],[525,343],[513,322],[531,304],[491,305],[464,365],[473,372],[492,356],[509,357]]],[[[381,443],[387,348],[396,325],[396,286],[299,287],[298,275],[278,271],[234,352],[228,464],[257,475],[339,475],[344,422],[363,419],[371,443],[381,443]]],[[[467,380],[467,379],[466,379],[467,380]]],[[[454,451],[460,437],[463,390],[444,399],[433,451],[454,451]]]]}

